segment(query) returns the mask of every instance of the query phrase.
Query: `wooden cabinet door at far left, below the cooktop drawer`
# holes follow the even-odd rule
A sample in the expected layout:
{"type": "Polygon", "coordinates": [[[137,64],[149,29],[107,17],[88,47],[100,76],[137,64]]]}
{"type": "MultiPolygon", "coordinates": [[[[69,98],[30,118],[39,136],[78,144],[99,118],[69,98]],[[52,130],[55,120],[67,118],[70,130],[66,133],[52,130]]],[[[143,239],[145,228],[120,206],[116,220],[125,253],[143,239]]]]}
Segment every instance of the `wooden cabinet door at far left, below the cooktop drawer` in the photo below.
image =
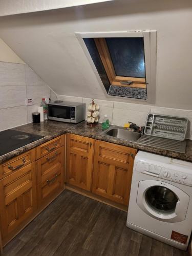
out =
{"type": "Polygon", "coordinates": [[[36,209],[35,162],[0,181],[0,215],[3,240],[22,227],[36,209]]]}

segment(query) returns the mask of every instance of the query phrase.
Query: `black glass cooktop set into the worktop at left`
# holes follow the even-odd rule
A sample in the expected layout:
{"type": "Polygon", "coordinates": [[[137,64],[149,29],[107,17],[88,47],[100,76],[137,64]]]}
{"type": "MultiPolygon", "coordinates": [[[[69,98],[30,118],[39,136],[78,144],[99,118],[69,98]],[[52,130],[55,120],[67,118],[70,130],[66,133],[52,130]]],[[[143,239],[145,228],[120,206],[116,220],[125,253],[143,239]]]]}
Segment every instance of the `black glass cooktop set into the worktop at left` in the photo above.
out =
{"type": "Polygon", "coordinates": [[[24,133],[12,129],[2,131],[0,132],[0,156],[42,138],[44,138],[44,136],[24,133]]]}

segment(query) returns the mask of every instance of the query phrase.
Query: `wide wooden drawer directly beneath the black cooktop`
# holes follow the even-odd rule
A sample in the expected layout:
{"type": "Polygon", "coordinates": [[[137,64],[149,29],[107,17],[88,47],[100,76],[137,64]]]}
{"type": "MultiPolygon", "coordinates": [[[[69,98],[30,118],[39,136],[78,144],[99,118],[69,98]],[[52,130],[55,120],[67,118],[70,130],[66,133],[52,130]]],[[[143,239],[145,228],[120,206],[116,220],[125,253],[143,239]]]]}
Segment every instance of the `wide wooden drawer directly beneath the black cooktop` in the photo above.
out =
{"type": "Polygon", "coordinates": [[[0,165],[0,179],[16,172],[29,163],[35,161],[35,148],[17,157],[14,157],[0,165]]]}

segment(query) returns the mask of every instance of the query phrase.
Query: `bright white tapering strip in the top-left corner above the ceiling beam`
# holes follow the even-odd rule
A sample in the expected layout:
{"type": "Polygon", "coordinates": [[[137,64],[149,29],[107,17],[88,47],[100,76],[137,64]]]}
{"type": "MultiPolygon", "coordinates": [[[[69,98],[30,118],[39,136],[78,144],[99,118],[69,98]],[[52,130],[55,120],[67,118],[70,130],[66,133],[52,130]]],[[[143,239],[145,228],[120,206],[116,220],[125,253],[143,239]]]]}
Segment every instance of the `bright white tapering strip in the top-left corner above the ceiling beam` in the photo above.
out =
{"type": "Polygon", "coordinates": [[[1,0],[0,16],[45,11],[113,0],[1,0]]]}

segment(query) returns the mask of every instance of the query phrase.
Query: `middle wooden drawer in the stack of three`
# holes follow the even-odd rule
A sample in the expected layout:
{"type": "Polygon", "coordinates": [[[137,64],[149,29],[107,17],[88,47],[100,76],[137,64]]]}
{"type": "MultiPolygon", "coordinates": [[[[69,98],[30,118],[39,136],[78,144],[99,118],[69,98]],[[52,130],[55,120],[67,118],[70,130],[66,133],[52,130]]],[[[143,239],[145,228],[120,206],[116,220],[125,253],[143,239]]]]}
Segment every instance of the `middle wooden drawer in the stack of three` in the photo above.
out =
{"type": "Polygon", "coordinates": [[[45,157],[37,160],[37,183],[46,181],[50,175],[57,173],[57,171],[64,165],[65,147],[59,147],[57,150],[49,153],[45,157]]]}

